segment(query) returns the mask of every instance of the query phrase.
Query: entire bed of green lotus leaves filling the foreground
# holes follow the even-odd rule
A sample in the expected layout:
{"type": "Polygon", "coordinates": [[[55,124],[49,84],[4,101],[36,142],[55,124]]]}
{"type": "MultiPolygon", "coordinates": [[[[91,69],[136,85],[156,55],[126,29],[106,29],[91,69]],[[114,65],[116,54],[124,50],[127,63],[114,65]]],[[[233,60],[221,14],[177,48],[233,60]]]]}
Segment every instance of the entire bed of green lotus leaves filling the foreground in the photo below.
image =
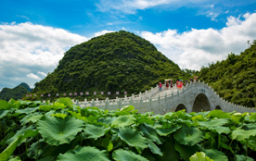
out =
{"type": "Polygon", "coordinates": [[[256,113],[221,110],[138,114],[0,100],[0,161],[253,161],[256,113]]]}

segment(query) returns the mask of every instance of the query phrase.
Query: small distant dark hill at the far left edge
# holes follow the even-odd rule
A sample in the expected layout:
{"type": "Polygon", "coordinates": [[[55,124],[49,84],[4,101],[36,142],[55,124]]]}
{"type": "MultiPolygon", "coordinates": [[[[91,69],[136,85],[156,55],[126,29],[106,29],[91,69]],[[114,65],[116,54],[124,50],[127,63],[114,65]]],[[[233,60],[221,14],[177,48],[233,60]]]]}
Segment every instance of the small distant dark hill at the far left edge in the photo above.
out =
{"type": "Polygon", "coordinates": [[[25,82],[22,82],[13,89],[4,88],[0,92],[0,99],[9,101],[11,98],[13,98],[15,100],[18,100],[18,99],[21,99],[25,93],[28,93],[31,91],[32,89],[30,88],[30,86],[25,82]]]}

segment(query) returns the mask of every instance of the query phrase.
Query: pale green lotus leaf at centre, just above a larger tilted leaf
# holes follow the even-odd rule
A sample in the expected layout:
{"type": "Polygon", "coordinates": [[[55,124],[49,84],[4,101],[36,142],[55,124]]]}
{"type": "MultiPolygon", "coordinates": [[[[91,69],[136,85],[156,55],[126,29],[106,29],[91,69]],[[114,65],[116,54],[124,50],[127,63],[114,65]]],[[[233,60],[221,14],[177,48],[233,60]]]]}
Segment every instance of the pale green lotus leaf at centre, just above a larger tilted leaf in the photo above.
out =
{"type": "Polygon", "coordinates": [[[133,115],[125,115],[113,120],[111,125],[112,127],[125,127],[133,124],[134,121],[135,121],[135,118],[133,115]]]}

